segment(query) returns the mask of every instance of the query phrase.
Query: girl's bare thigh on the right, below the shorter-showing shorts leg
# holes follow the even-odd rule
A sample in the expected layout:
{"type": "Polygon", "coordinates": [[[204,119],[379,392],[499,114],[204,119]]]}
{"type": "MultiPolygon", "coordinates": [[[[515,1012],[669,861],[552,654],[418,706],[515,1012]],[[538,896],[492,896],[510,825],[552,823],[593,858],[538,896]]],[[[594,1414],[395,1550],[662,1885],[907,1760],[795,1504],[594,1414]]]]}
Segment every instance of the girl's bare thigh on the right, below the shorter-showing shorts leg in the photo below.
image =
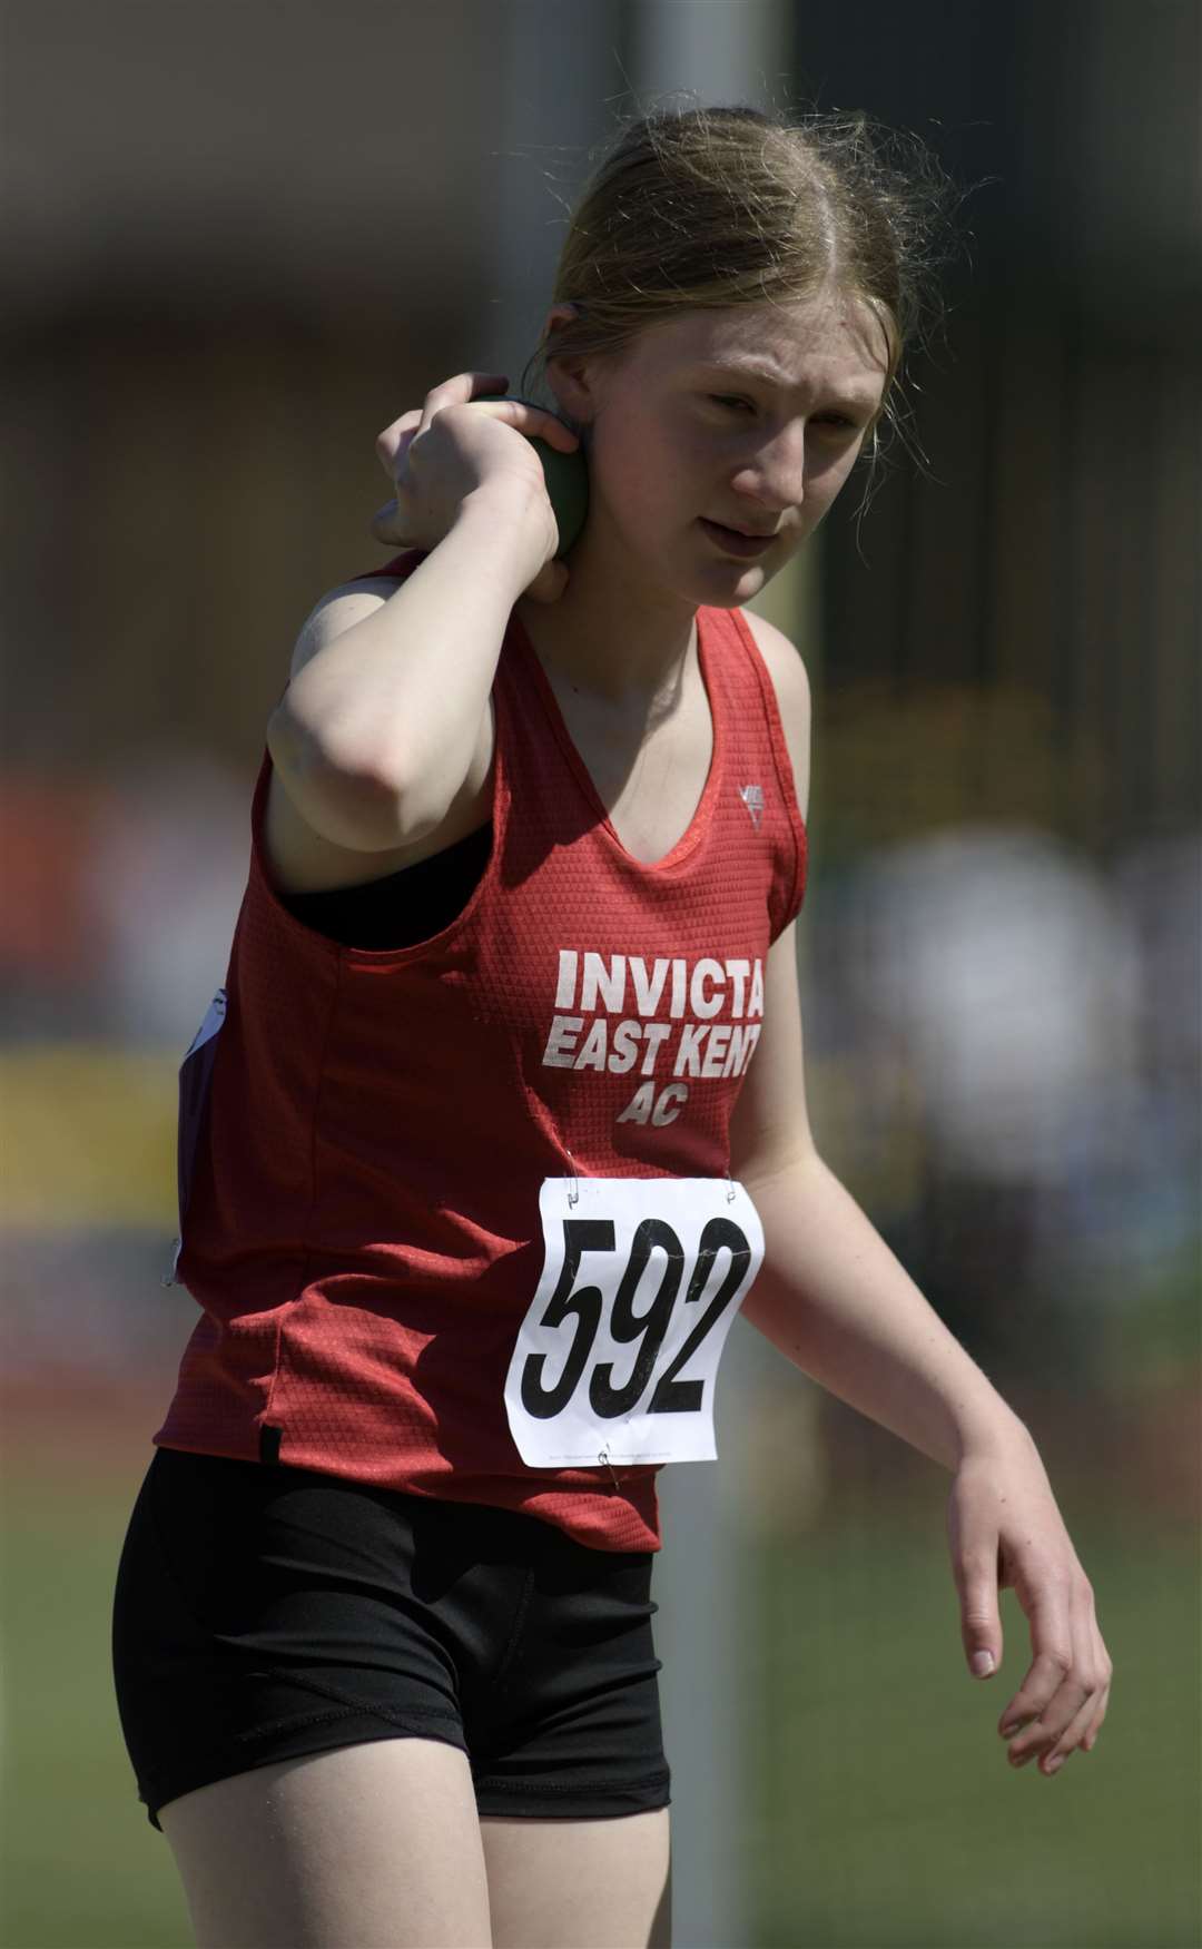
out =
{"type": "Polygon", "coordinates": [[[481,1816],[493,1949],[668,1949],[668,1820],[481,1816]]]}

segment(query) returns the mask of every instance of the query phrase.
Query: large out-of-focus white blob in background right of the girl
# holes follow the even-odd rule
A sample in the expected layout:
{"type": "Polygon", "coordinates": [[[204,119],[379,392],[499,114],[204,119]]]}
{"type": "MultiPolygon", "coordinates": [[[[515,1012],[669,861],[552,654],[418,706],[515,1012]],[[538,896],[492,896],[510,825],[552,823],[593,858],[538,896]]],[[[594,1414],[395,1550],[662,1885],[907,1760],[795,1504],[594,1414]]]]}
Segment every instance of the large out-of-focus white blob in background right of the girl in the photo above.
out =
{"type": "Polygon", "coordinates": [[[1089,860],[958,826],[869,856],[853,887],[861,1008],[914,1058],[939,1150],[1027,1185],[1134,1148],[1138,941],[1089,860]]]}

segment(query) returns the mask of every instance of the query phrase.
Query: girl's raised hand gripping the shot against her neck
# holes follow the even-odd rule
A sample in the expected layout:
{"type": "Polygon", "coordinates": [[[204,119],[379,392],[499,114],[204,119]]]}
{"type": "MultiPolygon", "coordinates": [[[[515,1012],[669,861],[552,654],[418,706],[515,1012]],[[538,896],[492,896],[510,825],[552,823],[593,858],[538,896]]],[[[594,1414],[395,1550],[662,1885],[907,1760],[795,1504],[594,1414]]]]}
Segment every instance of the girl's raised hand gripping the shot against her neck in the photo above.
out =
{"type": "Polygon", "coordinates": [[[530,565],[524,589],[536,602],[557,602],[567,565],[555,561],[559,528],[544,485],[538,454],[524,435],[571,454],[577,435],[520,400],[477,400],[508,380],[495,372],[458,372],[427,394],[425,405],[401,413],[376,437],[380,466],[394,483],[372,520],[378,542],[432,550],[454,528],[468,495],[487,489],[522,509],[522,552],[530,565]]]}

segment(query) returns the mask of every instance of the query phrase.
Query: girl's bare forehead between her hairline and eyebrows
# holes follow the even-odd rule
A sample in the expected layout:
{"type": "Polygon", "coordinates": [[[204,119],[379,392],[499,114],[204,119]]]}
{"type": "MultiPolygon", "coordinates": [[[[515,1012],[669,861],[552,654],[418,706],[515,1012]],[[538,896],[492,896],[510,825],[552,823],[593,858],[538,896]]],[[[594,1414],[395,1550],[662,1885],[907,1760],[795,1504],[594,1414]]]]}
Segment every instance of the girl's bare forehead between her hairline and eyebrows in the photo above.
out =
{"type": "Polygon", "coordinates": [[[723,310],[682,312],[637,341],[637,363],[670,374],[694,366],[742,366],[748,378],[795,392],[838,384],[877,403],[888,370],[888,345],[877,314],[847,292],[723,310]]]}

